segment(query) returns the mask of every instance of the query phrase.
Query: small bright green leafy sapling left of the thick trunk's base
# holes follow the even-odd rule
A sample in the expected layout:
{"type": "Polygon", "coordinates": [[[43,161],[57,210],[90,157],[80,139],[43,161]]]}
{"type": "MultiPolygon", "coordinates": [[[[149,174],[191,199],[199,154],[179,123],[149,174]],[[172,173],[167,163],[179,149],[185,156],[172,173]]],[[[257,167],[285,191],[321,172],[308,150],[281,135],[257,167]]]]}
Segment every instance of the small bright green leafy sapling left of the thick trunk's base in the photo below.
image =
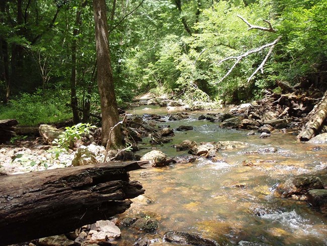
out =
{"type": "Polygon", "coordinates": [[[96,126],[91,126],[89,123],[78,123],[72,127],[66,127],[65,131],[59,135],[58,139],[54,139],[52,143],[57,145],[59,149],[68,150],[73,147],[76,140],[81,139],[84,134],[89,134],[90,129],[93,128],[96,128],[96,126]]]}

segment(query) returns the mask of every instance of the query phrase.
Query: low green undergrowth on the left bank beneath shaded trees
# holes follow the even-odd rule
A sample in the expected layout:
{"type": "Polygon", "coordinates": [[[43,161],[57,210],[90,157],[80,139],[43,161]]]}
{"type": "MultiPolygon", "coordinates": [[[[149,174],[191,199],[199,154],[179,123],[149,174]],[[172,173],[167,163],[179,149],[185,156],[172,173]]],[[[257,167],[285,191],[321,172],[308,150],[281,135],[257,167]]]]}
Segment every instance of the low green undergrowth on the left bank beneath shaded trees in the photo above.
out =
{"type": "Polygon", "coordinates": [[[71,117],[66,100],[66,91],[54,91],[46,95],[41,90],[33,94],[23,93],[11,100],[9,105],[0,106],[0,118],[15,118],[22,126],[63,121],[71,117]]]}

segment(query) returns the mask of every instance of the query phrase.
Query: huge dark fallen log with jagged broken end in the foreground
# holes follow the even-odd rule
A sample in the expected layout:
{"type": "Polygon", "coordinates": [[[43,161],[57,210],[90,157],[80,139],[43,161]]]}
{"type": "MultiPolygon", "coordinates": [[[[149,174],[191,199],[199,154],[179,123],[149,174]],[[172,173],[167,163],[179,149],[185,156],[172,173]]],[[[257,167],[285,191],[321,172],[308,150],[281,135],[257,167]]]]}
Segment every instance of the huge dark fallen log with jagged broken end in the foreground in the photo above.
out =
{"type": "Polygon", "coordinates": [[[144,193],[128,171],[144,162],[101,163],[0,176],[0,245],[73,231],[123,213],[144,193]]]}

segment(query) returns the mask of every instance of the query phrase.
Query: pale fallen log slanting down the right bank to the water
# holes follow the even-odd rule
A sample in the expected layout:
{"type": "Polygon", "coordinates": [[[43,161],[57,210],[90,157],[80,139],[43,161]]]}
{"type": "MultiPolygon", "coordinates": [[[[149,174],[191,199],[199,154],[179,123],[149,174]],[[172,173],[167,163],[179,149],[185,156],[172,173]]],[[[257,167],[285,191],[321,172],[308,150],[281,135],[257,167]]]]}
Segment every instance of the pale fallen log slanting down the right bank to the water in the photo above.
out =
{"type": "Polygon", "coordinates": [[[327,91],[324,93],[321,101],[312,109],[309,115],[310,119],[297,136],[297,138],[301,141],[308,141],[312,137],[319,134],[322,124],[327,118],[327,91]]]}

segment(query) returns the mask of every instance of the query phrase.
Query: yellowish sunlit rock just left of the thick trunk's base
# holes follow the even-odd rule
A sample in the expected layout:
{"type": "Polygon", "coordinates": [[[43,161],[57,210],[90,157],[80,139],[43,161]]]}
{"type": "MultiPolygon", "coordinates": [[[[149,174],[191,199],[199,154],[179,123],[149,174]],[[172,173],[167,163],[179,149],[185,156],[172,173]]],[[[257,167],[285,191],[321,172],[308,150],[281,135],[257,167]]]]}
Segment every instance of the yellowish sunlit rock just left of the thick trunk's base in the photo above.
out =
{"type": "Polygon", "coordinates": [[[73,166],[92,165],[104,162],[106,149],[103,146],[90,144],[89,146],[80,146],[71,161],[73,166]]]}

